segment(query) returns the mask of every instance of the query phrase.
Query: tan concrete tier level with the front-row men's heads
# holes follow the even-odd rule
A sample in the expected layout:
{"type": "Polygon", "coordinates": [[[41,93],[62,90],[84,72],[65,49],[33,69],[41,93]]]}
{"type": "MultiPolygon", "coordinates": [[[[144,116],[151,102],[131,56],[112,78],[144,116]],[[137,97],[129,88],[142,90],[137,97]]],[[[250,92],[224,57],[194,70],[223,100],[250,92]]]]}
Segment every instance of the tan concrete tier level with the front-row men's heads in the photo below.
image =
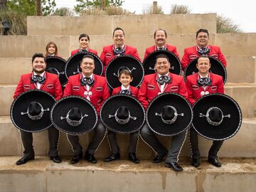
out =
{"type": "MultiPolygon", "coordinates": [[[[227,61],[227,82],[255,83],[255,57],[228,56],[227,61]]],[[[20,76],[22,74],[29,73],[30,71],[31,58],[0,58],[1,84],[16,85],[20,76]]]]}

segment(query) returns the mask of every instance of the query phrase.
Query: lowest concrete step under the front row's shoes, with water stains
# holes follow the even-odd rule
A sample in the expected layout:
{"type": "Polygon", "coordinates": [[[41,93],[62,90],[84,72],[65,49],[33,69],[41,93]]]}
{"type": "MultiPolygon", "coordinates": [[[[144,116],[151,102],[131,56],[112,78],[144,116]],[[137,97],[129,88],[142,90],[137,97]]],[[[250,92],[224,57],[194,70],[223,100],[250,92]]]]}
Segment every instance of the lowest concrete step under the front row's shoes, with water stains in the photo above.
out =
{"type": "Polygon", "coordinates": [[[121,160],[97,164],[83,160],[71,165],[69,159],[54,164],[46,156],[36,156],[27,164],[16,166],[19,156],[0,157],[1,191],[183,191],[183,192],[240,192],[255,191],[255,159],[221,159],[216,168],[201,160],[199,169],[181,159],[183,171],[175,172],[164,167],[164,162],[140,164],[121,160]]]}

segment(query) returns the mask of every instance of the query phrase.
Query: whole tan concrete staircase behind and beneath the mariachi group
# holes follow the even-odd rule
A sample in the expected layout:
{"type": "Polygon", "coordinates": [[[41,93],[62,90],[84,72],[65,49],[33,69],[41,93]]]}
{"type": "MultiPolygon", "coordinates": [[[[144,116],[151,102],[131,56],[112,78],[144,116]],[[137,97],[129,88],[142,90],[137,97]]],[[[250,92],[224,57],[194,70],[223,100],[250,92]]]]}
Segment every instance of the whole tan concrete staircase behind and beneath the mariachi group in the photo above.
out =
{"type": "MultiPolygon", "coordinates": [[[[256,33],[217,34],[215,14],[152,16],[33,17],[27,20],[28,36],[0,36],[0,191],[255,191],[256,188],[256,33]],[[69,58],[78,48],[80,33],[90,35],[90,47],[100,55],[103,46],[112,43],[112,31],[124,28],[126,42],[138,49],[141,58],[146,47],[154,44],[154,31],[164,28],[167,41],[183,49],[195,45],[198,28],[210,32],[210,44],[218,45],[228,60],[225,93],[233,97],[242,110],[242,127],[235,137],[224,142],[219,156],[223,167],[216,169],[206,161],[200,169],[189,166],[190,146],[186,140],[181,151],[184,171],[175,173],[164,164],[151,164],[154,156],[149,146],[139,140],[139,166],[122,160],[105,164],[109,145],[102,142],[96,157],[98,164],[82,162],[72,166],[73,154],[65,134],[60,134],[62,164],[47,160],[47,132],[34,134],[36,160],[23,166],[14,162],[22,155],[18,129],[11,123],[9,110],[21,74],[31,71],[33,53],[45,53],[48,41],[54,41],[59,55],[69,58]],[[38,157],[39,156],[39,157],[38,157]],[[106,179],[107,178],[107,179],[106,179]],[[63,182],[68,179],[69,182],[63,182]],[[110,183],[111,182],[111,183],[110,183]],[[37,183],[36,185],[34,183],[37,183]],[[58,183],[57,186],[54,183],[58,183]],[[185,187],[186,186],[186,187],[185,187]],[[36,188],[36,190],[35,190],[36,188]]],[[[80,137],[84,149],[92,133],[80,137]]],[[[169,137],[159,137],[169,147],[169,137]]],[[[127,159],[129,137],[118,135],[122,159],[127,159]]],[[[201,155],[207,156],[211,142],[200,138],[201,155]]]]}

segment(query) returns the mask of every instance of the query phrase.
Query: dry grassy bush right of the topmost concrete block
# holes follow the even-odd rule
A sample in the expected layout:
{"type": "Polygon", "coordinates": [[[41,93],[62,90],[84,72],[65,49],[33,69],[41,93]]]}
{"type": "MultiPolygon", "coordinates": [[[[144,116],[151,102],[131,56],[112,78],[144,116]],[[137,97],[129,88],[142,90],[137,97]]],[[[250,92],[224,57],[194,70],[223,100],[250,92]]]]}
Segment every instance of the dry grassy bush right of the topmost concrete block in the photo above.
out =
{"type": "Polygon", "coordinates": [[[241,33],[242,30],[235,25],[231,18],[217,16],[217,33],[241,33]]]}

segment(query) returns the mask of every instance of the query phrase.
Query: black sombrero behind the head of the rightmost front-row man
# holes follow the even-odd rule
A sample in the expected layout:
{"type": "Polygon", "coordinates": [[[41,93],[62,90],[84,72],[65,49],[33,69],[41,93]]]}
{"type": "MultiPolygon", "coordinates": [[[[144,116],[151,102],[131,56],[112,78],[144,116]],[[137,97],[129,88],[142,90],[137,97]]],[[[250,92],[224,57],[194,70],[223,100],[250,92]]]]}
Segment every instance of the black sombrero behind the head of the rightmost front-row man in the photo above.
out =
{"type": "MultiPolygon", "coordinates": [[[[210,72],[215,73],[217,75],[220,75],[223,77],[223,82],[225,84],[227,80],[227,70],[225,69],[224,65],[220,63],[220,60],[215,59],[213,57],[208,57],[210,59],[210,72]]],[[[188,75],[193,75],[194,73],[198,73],[198,68],[196,68],[198,58],[195,58],[191,61],[191,63],[188,63],[185,71],[184,71],[184,80],[186,82],[186,77],[188,75]]]]}

